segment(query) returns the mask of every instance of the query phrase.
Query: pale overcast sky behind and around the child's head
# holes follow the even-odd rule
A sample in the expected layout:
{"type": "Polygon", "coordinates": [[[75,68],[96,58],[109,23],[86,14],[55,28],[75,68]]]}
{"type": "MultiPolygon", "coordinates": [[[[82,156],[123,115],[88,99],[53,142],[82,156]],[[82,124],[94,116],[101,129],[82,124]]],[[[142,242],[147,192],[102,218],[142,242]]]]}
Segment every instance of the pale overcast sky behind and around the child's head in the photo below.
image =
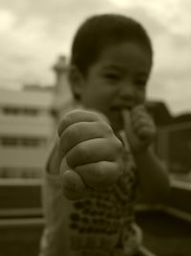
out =
{"type": "Polygon", "coordinates": [[[190,0],[0,0],[0,87],[53,84],[53,63],[69,56],[79,23],[99,12],[145,26],[155,51],[148,96],[174,113],[191,112],[190,0]]]}

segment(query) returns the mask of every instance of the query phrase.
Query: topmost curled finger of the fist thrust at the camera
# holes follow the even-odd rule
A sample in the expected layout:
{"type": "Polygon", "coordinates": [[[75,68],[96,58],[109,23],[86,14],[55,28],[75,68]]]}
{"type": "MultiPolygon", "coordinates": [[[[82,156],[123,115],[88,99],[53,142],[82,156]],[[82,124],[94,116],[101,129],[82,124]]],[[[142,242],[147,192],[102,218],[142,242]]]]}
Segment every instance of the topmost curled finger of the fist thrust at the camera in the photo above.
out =
{"type": "Polygon", "coordinates": [[[61,136],[62,132],[71,125],[79,122],[95,122],[100,121],[100,116],[93,111],[74,110],[65,114],[58,126],[58,135],[61,136]]]}

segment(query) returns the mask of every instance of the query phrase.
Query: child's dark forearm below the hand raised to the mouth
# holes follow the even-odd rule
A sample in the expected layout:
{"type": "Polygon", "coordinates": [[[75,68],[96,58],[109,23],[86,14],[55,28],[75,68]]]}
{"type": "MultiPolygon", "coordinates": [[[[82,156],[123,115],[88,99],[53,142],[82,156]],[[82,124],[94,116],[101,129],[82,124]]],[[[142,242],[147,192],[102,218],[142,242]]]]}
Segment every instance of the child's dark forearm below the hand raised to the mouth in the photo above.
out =
{"type": "Polygon", "coordinates": [[[151,150],[135,154],[140,192],[149,200],[163,201],[169,194],[169,178],[164,164],[151,150]]]}

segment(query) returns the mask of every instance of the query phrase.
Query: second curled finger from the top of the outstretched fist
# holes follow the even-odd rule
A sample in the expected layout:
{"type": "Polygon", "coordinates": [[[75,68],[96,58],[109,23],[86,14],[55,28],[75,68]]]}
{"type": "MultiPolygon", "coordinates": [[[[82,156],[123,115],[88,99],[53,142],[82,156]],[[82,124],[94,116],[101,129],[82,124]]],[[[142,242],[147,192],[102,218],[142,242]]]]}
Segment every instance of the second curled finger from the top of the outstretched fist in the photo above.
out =
{"type": "Polygon", "coordinates": [[[60,137],[59,148],[62,155],[80,142],[112,136],[112,128],[103,122],[81,122],[66,128],[60,137]]]}

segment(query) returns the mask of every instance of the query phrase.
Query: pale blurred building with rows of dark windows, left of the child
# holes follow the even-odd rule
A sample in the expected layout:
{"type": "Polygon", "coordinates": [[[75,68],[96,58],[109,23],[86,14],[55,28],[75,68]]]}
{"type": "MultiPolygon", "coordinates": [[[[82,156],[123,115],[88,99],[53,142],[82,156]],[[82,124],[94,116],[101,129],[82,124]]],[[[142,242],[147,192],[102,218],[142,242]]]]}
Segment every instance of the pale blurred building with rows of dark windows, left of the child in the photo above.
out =
{"type": "Polygon", "coordinates": [[[53,92],[0,91],[0,177],[40,177],[53,135],[53,92]]]}

